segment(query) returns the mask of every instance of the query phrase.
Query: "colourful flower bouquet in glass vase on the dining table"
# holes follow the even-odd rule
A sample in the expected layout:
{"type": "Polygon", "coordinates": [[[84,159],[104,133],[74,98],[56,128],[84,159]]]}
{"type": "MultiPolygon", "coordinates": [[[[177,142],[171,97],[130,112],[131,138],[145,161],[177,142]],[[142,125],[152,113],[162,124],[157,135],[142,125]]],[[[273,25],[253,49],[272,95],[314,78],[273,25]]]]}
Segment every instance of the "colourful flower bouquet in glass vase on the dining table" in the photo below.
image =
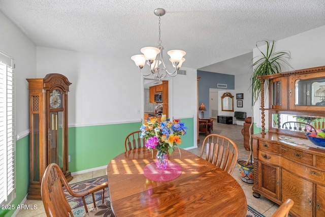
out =
{"type": "Polygon", "coordinates": [[[149,150],[157,149],[156,164],[159,169],[166,169],[168,154],[174,152],[174,148],[181,144],[180,136],[186,134],[187,127],[179,119],[170,121],[166,115],[161,115],[161,122],[156,117],[150,117],[147,123],[142,125],[140,130],[141,138],[145,138],[145,146],[149,150]]]}

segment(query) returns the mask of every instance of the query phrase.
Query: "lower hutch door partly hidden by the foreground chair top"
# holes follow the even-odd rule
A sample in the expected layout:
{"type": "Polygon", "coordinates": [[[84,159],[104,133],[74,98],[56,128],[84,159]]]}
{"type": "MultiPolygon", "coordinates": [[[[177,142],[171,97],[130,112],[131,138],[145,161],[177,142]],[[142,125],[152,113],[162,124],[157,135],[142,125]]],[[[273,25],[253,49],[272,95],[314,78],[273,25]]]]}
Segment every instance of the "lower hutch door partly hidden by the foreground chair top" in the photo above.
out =
{"type": "MultiPolygon", "coordinates": [[[[295,204],[291,208],[300,216],[312,216],[313,213],[313,183],[282,169],[281,177],[282,199],[292,199],[295,204]]],[[[324,195],[323,195],[324,196],[324,195]]],[[[322,215],[324,216],[324,215],[322,215]]]]}

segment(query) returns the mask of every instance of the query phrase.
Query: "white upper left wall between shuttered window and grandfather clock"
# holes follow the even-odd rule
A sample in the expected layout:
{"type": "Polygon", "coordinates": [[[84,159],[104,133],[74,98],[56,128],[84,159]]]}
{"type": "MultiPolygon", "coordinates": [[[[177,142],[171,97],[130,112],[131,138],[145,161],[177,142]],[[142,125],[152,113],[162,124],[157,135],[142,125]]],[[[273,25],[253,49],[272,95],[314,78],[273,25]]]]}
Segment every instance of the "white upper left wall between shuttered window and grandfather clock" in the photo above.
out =
{"type": "Polygon", "coordinates": [[[29,133],[28,82],[36,76],[36,46],[23,32],[0,12],[0,50],[14,58],[16,79],[16,134],[29,133]]]}

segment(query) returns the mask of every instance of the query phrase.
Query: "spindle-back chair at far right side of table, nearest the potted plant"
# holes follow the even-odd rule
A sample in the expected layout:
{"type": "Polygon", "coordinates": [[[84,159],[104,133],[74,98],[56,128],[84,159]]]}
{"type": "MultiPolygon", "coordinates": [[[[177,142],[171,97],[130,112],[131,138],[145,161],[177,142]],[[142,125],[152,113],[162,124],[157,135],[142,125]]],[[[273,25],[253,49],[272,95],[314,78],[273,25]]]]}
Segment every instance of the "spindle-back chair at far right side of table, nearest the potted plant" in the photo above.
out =
{"type": "Polygon", "coordinates": [[[202,143],[200,157],[203,158],[206,149],[205,160],[232,174],[238,159],[238,148],[235,142],[225,136],[210,134],[202,143]]]}

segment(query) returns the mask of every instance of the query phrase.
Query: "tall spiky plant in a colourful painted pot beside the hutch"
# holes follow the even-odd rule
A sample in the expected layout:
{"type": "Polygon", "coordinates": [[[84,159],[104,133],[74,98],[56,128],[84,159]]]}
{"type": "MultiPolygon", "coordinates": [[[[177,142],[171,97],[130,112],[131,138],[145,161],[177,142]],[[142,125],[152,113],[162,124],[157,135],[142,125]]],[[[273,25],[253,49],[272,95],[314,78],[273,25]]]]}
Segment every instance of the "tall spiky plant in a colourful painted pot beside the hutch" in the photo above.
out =
{"type": "Polygon", "coordinates": [[[252,89],[252,121],[250,125],[250,135],[249,135],[249,144],[250,144],[250,154],[248,159],[238,159],[237,163],[240,168],[242,180],[246,183],[253,183],[253,170],[254,162],[252,157],[252,141],[251,141],[251,132],[253,127],[253,107],[259,95],[261,94],[261,80],[258,79],[258,76],[277,74],[281,72],[281,67],[284,65],[292,68],[288,63],[288,60],[291,58],[290,52],[278,51],[273,52],[274,41],[258,41],[256,42],[257,49],[261,52],[261,55],[256,56],[252,59],[252,65],[250,68],[253,68],[253,74],[251,77],[251,89],[252,89]],[[258,43],[266,43],[266,52],[264,53],[259,47],[258,43]]]}

